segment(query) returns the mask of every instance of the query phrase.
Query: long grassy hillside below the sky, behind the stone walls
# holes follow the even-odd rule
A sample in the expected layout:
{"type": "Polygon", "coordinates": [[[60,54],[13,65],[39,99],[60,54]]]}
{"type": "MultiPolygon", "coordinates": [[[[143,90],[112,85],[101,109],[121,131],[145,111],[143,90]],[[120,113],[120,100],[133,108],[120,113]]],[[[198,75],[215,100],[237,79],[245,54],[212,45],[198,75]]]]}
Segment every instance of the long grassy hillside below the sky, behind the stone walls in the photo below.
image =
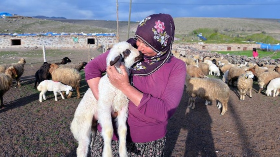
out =
{"type": "MultiPolygon", "coordinates": [[[[249,35],[265,33],[280,40],[279,19],[264,18],[214,18],[214,17],[177,17],[174,18],[175,35],[191,38],[193,30],[212,28],[223,34],[249,35]]],[[[127,39],[127,21],[119,21],[119,39],[127,39]]],[[[134,35],[138,22],[130,22],[129,37],[134,35]]],[[[0,33],[39,33],[39,32],[85,32],[117,34],[116,21],[79,20],[79,19],[40,19],[17,18],[0,19],[0,33]]]]}

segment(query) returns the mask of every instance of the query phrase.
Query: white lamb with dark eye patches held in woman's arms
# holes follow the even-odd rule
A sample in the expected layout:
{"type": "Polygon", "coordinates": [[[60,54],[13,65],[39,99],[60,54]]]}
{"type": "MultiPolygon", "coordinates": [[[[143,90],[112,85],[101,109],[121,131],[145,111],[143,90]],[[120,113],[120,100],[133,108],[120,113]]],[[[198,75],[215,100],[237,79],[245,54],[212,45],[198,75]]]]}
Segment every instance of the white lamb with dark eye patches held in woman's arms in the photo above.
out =
{"type": "MultiPolygon", "coordinates": [[[[119,42],[113,45],[110,50],[106,64],[114,65],[119,73],[120,64],[125,65],[125,70],[129,74],[129,68],[137,61],[142,59],[142,55],[138,50],[127,42],[119,42]]],[[[82,100],[78,104],[74,118],[70,125],[70,130],[74,138],[78,141],[76,150],[77,157],[86,157],[90,135],[92,135],[91,146],[96,133],[96,123],[92,124],[92,117],[98,114],[98,123],[102,126],[102,137],[104,139],[104,147],[102,157],[111,157],[111,138],[113,128],[111,123],[111,112],[118,112],[117,115],[117,134],[119,137],[119,157],[126,157],[126,119],[127,119],[127,97],[108,80],[108,76],[101,77],[98,84],[99,99],[93,97],[91,90],[88,89],[82,100]]]]}

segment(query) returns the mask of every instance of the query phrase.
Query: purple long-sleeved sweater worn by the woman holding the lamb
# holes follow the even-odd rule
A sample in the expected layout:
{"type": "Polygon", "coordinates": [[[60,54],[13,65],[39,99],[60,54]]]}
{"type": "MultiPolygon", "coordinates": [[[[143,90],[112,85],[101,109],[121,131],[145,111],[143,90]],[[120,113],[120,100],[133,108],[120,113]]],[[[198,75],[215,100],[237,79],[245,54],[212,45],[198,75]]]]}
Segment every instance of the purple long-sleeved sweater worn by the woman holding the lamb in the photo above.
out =
{"type": "MultiPolygon", "coordinates": [[[[105,52],[86,64],[86,81],[101,77],[106,71],[107,54],[105,52]]],[[[143,98],[138,107],[129,101],[127,141],[143,143],[165,136],[167,120],[174,114],[181,100],[185,76],[186,64],[175,57],[171,57],[170,62],[149,76],[133,76],[134,87],[143,93],[143,98]]],[[[98,130],[101,131],[100,125],[98,130]]],[[[117,140],[115,131],[113,140],[117,140]]]]}

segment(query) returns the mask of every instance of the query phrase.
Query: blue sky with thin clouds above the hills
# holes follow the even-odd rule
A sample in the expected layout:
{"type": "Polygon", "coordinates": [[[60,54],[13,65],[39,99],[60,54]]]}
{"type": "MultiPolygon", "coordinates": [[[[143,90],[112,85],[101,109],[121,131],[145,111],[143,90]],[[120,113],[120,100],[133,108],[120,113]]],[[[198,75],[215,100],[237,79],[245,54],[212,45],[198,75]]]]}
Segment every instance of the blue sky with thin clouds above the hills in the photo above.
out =
{"type": "MultiPolygon", "coordinates": [[[[118,17],[119,21],[128,21],[129,6],[130,0],[1,0],[0,12],[90,20],[118,17]]],[[[131,0],[130,21],[141,21],[153,13],[172,17],[280,19],[279,8],[280,0],[131,0]]]]}

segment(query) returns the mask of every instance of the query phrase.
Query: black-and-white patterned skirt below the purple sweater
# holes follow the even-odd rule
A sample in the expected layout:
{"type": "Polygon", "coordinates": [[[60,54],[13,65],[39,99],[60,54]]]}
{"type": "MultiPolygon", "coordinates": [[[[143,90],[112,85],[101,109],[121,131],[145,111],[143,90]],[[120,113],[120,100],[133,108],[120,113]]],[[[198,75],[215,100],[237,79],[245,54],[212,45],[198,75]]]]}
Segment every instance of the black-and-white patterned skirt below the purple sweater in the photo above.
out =
{"type": "MultiPolygon", "coordinates": [[[[127,157],[163,157],[166,138],[146,143],[126,142],[127,157]]],[[[97,131],[90,157],[102,157],[103,138],[97,131]]],[[[118,141],[112,140],[113,157],[118,157],[118,141]]]]}

